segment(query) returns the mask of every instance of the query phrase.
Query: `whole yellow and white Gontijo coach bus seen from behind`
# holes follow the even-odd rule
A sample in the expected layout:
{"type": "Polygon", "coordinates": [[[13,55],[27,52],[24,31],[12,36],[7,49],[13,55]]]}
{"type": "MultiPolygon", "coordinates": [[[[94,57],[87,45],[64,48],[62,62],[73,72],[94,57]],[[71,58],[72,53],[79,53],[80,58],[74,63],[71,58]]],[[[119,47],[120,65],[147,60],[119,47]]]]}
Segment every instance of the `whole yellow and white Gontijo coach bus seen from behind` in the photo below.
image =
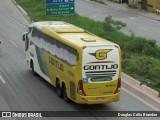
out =
{"type": "Polygon", "coordinates": [[[106,39],[63,21],[34,22],[23,34],[26,63],[78,104],[120,100],[121,50],[106,39]]]}

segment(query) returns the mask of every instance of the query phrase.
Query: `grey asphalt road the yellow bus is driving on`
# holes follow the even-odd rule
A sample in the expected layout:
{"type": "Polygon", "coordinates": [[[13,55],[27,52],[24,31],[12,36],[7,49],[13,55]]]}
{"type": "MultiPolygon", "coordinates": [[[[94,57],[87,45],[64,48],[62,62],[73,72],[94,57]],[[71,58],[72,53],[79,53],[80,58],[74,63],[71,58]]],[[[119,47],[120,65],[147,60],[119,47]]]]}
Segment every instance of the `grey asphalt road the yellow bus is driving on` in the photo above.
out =
{"type": "MultiPolygon", "coordinates": [[[[122,85],[120,102],[106,105],[78,105],[65,103],[57,97],[55,89],[39,76],[32,75],[25,64],[22,33],[27,23],[10,0],[1,0],[0,4],[0,111],[154,111],[128,88],[122,85]],[[10,11],[10,12],[7,12],[10,11]]],[[[73,113],[74,114],[74,113],[73,113]]],[[[42,118],[54,120],[73,118],[42,118]]],[[[125,120],[127,118],[80,117],[78,120],[125,120]]],[[[130,120],[136,118],[130,118],[130,120]]],[[[140,120],[158,120],[158,118],[137,118],[140,120]]],[[[3,119],[2,119],[3,120],[3,119]]],[[[15,118],[16,120],[16,118],[15,118]]],[[[32,118],[26,118],[32,120],[32,118]]],[[[34,119],[33,119],[34,120],[34,119]]]]}

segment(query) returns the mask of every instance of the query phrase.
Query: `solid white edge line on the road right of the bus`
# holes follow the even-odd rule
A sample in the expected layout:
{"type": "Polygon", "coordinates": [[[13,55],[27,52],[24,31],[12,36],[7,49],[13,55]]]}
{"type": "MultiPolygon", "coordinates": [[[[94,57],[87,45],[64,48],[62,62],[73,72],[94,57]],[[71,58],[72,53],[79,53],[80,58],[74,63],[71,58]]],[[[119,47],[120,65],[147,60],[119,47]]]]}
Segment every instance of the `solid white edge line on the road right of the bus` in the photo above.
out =
{"type": "Polygon", "coordinates": [[[136,96],[134,93],[128,91],[127,89],[122,87],[122,90],[124,90],[126,93],[130,94],[131,96],[135,97],[136,99],[138,99],[139,101],[143,102],[144,104],[146,104],[147,106],[149,106],[150,108],[152,108],[155,111],[160,111],[160,109],[154,107],[153,105],[149,104],[148,102],[146,102],[145,100],[141,99],[140,97],[136,96]]]}

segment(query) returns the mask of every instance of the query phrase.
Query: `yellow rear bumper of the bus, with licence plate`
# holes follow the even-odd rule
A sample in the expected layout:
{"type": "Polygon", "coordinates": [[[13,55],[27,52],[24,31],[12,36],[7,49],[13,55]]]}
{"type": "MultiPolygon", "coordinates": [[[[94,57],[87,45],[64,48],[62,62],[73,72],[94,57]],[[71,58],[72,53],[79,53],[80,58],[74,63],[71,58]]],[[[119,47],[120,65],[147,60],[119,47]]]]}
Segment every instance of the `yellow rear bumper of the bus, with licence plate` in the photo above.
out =
{"type": "Polygon", "coordinates": [[[79,104],[106,104],[117,102],[120,100],[120,93],[104,95],[104,96],[81,96],[77,95],[77,103],[79,104]]]}

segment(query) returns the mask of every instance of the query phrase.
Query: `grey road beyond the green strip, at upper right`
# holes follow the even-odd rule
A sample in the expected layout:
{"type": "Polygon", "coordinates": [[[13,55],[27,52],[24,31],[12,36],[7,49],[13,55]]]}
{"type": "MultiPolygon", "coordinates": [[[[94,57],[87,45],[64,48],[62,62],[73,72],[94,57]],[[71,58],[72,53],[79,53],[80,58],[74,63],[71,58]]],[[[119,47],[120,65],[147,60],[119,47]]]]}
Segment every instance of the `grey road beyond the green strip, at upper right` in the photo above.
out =
{"type": "Polygon", "coordinates": [[[118,8],[111,8],[107,5],[97,4],[90,0],[76,0],[75,8],[76,12],[81,16],[86,16],[98,21],[104,21],[106,16],[111,15],[114,20],[120,20],[127,24],[127,27],[122,30],[124,33],[130,35],[130,31],[132,31],[137,36],[156,40],[160,46],[160,21],[118,8]]]}

